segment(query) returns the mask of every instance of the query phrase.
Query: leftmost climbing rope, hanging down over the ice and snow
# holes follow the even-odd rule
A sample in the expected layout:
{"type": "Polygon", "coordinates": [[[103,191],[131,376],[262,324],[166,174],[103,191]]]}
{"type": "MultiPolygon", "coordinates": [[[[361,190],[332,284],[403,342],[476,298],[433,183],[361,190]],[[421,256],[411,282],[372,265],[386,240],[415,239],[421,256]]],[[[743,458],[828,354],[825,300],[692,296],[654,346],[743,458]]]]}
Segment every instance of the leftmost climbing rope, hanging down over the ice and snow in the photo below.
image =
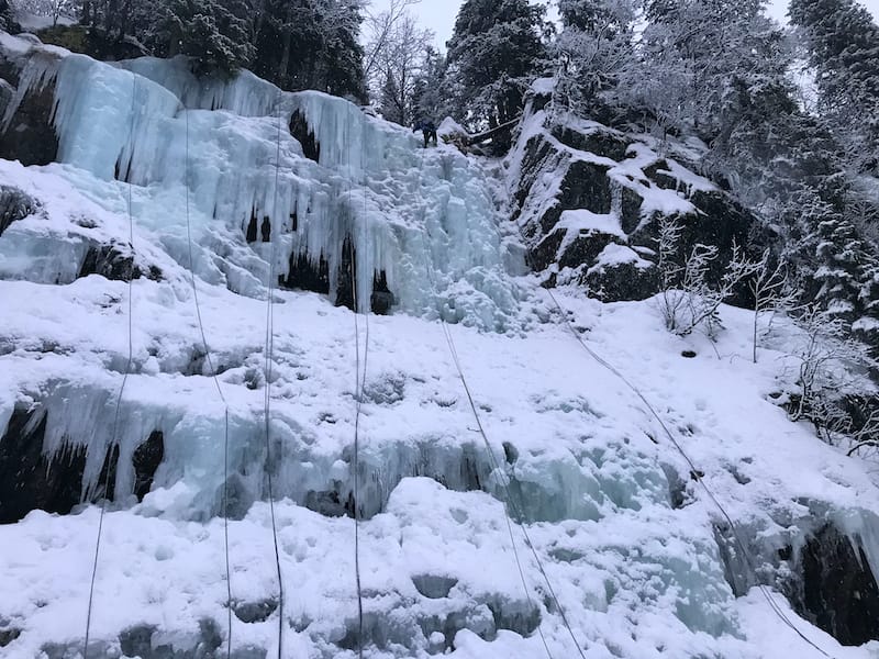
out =
{"type": "MultiPolygon", "coordinates": [[[[119,388],[119,395],[116,396],[115,403],[115,412],[113,413],[113,429],[111,431],[110,435],[110,445],[107,449],[107,473],[104,474],[104,482],[103,482],[103,492],[101,498],[101,506],[100,506],[100,514],[98,516],[98,537],[94,540],[94,557],[91,565],[91,579],[89,583],[89,603],[88,603],[88,611],[86,613],[86,638],[84,639],[82,646],[82,659],[89,659],[89,638],[91,636],[91,615],[94,608],[94,584],[98,580],[98,562],[100,560],[101,555],[101,537],[103,535],[103,518],[107,514],[107,500],[108,494],[110,492],[110,474],[114,471],[112,469],[113,463],[113,453],[118,448],[118,435],[119,435],[119,416],[122,410],[122,394],[125,392],[125,386],[129,382],[129,376],[131,375],[131,365],[133,361],[134,356],[134,342],[132,339],[133,331],[134,331],[134,323],[133,323],[133,292],[134,292],[134,219],[132,215],[132,185],[131,185],[131,159],[134,157],[134,114],[135,114],[135,99],[137,97],[137,76],[132,71],[131,74],[132,79],[132,89],[131,89],[131,116],[129,123],[129,168],[125,174],[125,182],[127,183],[127,194],[126,194],[126,210],[129,216],[129,247],[131,248],[131,270],[129,271],[129,302],[127,302],[127,340],[129,340],[129,354],[125,360],[125,373],[122,376],[122,384],[119,388]]],[[[115,494],[115,492],[114,492],[115,494]]]]}

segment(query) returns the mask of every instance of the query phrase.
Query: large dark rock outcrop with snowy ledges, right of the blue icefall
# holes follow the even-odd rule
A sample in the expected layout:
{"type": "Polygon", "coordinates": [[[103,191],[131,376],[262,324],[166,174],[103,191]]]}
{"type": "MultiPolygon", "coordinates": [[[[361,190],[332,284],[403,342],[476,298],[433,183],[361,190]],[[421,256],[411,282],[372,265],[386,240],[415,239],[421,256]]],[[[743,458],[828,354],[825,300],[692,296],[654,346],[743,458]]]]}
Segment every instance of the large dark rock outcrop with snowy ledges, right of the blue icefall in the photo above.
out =
{"type": "Polygon", "coordinates": [[[697,243],[719,247],[710,283],[722,277],[733,244],[748,244],[754,217],[745,209],[724,191],[711,189],[708,180],[694,185],[700,180],[696,175],[677,174],[688,165],[686,160],[659,156],[634,136],[600,124],[552,125],[531,134],[519,148],[513,219],[523,228],[531,267],[545,273],[545,286],[556,286],[557,273],[568,269],[572,276],[566,281],[576,281],[589,295],[605,301],[653,295],[659,278],[649,264],[656,263],[664,216],[682,226],[679,261],[697,243]],[[665,196],[661,203],[654,199],[659,194],[665,196]],[[650,206],[682,210],[664,215],[650,206]],[[566,211],[588,213],[563,224],[566,211]],[[605,263],[601,254],[613,244],[633,248],[638,258],[605,263]]]}

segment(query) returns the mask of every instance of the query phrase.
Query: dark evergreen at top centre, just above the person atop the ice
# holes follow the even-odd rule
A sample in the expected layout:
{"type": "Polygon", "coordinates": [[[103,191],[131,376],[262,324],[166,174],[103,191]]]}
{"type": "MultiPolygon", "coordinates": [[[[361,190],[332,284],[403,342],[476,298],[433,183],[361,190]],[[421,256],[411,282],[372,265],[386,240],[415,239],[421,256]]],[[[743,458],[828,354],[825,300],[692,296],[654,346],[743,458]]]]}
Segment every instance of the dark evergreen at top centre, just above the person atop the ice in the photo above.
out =
{"type": "Polygon", "coordinates": [[[447,86],[456,119],[496,127],[521,112],[524,90],[545,57],[545,8],[528,0],[467,0],[448,42],[447,86]]]}

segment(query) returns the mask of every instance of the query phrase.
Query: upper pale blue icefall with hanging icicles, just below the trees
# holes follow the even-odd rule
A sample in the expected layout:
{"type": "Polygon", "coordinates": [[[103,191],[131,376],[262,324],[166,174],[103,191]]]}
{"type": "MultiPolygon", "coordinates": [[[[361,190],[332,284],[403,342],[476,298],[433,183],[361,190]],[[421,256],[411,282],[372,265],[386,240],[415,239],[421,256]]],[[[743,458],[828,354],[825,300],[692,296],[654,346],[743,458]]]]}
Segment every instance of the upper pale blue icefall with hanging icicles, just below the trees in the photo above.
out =
{"type": "Polygon", "coordinates": [[[397,311],[486,330],[513,322],[485,174],[455,149],[422,149],[343,99],[281,92],[248,72],[198,80],[182,59],[34,57],[23,80],[55,82],[59,160],[141,188],[136,222],[185,265],[188,212],[209,281],[262,294],[268,260],[282,281],[305,263],[324,269],[335,299],[354,261],[360,311],[380,281],[397,311]]]}

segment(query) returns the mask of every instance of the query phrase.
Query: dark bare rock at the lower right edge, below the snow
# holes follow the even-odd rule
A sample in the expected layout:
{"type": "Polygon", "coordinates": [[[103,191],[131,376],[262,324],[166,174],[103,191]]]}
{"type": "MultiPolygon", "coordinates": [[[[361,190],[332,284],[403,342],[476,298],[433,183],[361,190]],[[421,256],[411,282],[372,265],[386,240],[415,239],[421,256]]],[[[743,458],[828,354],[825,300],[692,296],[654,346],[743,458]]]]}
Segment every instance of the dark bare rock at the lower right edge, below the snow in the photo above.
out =
{"type": "Polygon", "coordinates": [[[879,587],[859,538],[853,541],[832,524],[809,538],[799,557],[797,613],[842,645],[879,639],[879,587]]]}

